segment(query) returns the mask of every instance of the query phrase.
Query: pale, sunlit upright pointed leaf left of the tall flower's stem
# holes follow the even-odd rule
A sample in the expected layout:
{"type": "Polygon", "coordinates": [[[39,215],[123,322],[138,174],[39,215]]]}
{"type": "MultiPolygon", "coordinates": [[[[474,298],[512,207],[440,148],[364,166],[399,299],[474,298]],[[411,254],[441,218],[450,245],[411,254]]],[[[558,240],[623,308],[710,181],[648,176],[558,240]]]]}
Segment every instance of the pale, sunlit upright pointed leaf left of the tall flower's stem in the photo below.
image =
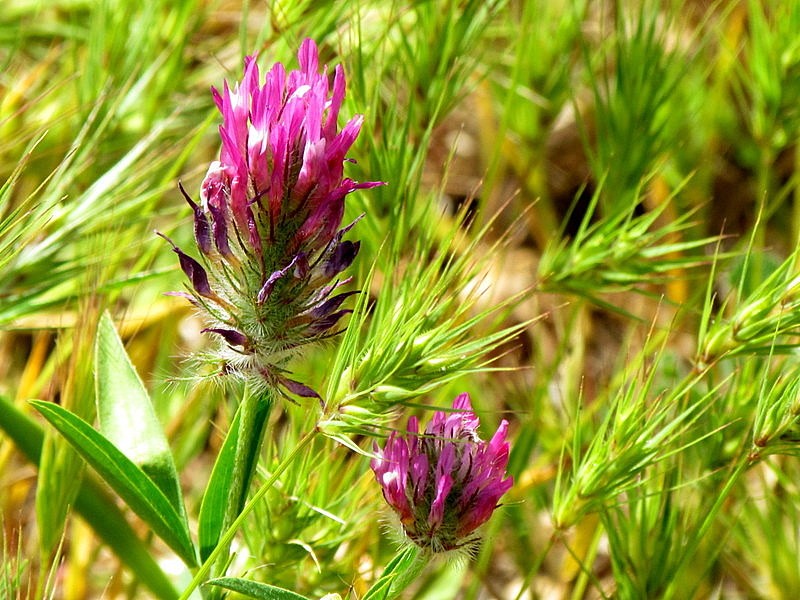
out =
{"type": "Polygon", "coordinates": [[[178,472],[153,404],[107,312],[95,344],[100,431],[153,480],[185,520],[178,472]]]}

